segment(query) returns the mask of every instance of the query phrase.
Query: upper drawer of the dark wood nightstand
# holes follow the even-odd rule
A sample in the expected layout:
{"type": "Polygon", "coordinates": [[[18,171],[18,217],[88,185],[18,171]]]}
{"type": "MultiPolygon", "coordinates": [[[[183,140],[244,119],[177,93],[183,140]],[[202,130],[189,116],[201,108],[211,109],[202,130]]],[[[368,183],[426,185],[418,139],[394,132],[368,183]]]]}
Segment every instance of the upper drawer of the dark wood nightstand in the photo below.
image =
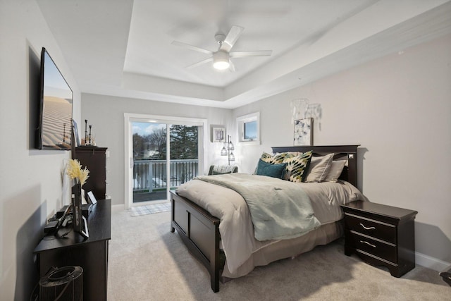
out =
{"type": "Polygon", "coordinates": [[[345,215],[347,229],[396,244],[396,226],[354,214],[346,213],[345,215]]]}

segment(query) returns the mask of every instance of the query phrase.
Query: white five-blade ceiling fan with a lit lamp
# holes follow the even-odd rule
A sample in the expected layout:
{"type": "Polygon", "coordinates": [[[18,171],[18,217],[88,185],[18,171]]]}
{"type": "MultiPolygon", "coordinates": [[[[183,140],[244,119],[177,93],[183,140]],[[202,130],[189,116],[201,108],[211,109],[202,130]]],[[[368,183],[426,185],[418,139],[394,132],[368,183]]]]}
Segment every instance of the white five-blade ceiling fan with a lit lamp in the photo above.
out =
{"type": "Polygon", "coordinates": [[[237,39],[240,37],[243,30],[245,30],[244,27],[233,25],[232,28],[230,28],[227,36],[221,32],[218,32],[214,36],[216,42],[218,42],[219,44],[219,48],[216,51],[210,51],[208,49],[203,49],[197,46],[185,44],[183,42],[178,41],[173,41],[171,44],[186,47],[188,49],[210,55],[208,59],[204,59],[202,61],[194,63],[190,66],[187,66],[187,68],[194,68],[204,63],[209,63],[210,61],[213,61],[213,67],[217,70],[226,70],[230,68],[230,70],[235,71],[235,66],[233,66],[233,62],[230,60],[230,58],[243,58],[247,56],[271,56],[272,53],[272,50],[230,52],[230,49],[232,49],[235,42],[237,42],[237,39]]]}

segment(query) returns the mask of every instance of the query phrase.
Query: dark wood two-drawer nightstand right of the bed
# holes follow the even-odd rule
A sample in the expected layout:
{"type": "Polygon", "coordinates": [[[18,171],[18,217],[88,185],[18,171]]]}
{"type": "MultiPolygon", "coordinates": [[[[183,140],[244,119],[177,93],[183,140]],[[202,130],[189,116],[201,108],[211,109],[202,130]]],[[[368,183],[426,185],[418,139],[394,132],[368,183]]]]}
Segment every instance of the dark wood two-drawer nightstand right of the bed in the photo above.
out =
{"type": "Polygon", "coordinates": [[[417,211],[372,202],[341,205],[345,213],[345,254],[388,267],[400,277],[415,267],[417,211]]]}

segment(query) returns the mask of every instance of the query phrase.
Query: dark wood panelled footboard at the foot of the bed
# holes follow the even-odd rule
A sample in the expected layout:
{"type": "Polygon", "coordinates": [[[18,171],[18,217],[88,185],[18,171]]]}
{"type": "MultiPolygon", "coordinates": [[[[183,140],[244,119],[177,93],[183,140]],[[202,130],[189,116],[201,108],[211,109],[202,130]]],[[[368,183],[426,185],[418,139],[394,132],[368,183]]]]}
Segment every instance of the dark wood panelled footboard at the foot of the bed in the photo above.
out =
{"type": "Polygon", "coordinates": [[[171,204],[171,232],[177,229],[190,253],[209,271],[211,289],[218,292],[222,269],[219,219],[175,192],[171,192],[171,204]]]}

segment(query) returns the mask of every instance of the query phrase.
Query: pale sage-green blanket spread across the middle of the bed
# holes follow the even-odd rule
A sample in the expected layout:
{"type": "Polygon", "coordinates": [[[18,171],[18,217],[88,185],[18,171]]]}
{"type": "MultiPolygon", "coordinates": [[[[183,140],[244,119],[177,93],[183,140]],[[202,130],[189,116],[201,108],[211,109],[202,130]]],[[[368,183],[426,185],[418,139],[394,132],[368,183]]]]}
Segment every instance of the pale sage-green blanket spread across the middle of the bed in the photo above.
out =
{"type": "Polygon", "coordinates": [[[245,173],[197,179],[235,190],[245,199],[257,240],[297,238],[321,226],[309,197],[297,183],[245,173]]]}

